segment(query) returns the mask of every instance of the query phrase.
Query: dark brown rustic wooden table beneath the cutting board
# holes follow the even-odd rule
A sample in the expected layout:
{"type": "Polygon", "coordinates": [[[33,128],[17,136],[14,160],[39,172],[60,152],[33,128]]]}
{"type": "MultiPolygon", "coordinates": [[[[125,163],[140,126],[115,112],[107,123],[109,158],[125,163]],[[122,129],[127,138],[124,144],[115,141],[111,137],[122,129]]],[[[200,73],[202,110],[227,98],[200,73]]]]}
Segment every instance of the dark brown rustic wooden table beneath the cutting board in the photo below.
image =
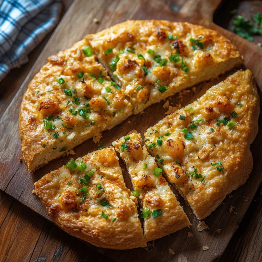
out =
{"type": "MultiPolygon", "coordinates": [[[[64,7],[60,18],[63,17],[72,1],[63,0],[64,7]]],[[[181,0],[177,2],[182,3],[181,0]]],[[[243,14],[246,17],[253,11],[262,13],[261,1],[238,2],[237,0],[230,1],[230,4],[222,7],[223,10],[222,8],[218,10],[215,22],[230,29],[232,16],[229,13],[237,6],[238,14],[243,14]]],[[[52,32],[29,55],[29,63],[21,68],[13,69],[0,83],[0,117],[7,109],[51,34],[52,32]]],[[[262,37],[256,37],[255,41],[262,42],[262,37]]],[[[1,139],[4,139],[4,136],[1,139]]],[[[111,261],[1,191],[0,210],[0,262],[111,261]]],[[[262,187],[258,189],[220,261],[261,261],[261,225],[262,187]]]]}

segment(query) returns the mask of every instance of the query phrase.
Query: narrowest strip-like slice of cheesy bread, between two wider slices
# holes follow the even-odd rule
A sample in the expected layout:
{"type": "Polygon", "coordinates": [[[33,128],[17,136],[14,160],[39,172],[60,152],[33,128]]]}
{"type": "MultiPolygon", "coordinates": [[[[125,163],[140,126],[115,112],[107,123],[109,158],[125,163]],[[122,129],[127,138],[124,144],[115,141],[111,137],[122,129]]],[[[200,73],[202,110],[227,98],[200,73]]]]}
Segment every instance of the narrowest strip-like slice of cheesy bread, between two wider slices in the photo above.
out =
{"type": "Polygon", "coordinates": [[[134,191],[141,200],[146,241],[155,240],[190,225],[155,159],[142,147],[136,131],[114,141],[113,146],[127,165],[134,191]]]}

